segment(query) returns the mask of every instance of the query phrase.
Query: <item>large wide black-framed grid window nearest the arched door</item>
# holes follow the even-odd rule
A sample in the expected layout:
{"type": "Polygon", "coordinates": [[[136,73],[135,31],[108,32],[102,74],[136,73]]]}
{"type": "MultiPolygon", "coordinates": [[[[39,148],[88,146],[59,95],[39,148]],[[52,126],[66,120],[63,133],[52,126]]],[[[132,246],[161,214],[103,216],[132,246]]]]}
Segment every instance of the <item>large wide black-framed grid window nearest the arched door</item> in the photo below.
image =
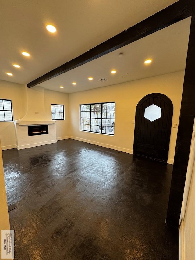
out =
{"type": "Polygon", "coordinates": [[[80,105],[80,130],[114,135],[115,102],[80,105]]]}

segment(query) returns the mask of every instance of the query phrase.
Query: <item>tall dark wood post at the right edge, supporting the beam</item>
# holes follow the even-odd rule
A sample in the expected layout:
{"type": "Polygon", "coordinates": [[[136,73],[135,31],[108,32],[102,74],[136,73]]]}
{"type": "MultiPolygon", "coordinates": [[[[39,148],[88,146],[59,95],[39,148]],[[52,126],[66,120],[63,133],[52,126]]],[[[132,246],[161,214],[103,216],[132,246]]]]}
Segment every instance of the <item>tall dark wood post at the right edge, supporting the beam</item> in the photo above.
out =
{"type": "MultiPolygon", "coordinates": [[[[193,8],[193,14],[195,14],[193,8]]],[[[190,144],[195,116],[195,15],[192,16],[190,38],[183,84],[183,94],[176,153],[174,159],[170,197],[166,223],[179,227],[183,192],[190,153],[190,144]]]]}

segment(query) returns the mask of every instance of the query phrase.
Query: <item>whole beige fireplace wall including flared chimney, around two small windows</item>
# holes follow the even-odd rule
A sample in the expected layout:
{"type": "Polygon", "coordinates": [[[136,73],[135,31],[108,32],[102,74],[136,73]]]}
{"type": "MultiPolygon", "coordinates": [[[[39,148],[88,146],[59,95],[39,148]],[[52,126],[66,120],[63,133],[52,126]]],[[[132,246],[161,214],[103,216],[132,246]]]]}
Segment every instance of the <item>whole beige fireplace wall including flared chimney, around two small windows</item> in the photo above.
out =
{"type": "MultiPolygon", "coordinates": [[[[28,120],[51,119],[51,103],[65,105],[65,120],[56,122],[57,140],[69,137],[69,95],[57,91],[44,90],[42,87],[28,89],[26,85],[0,80],[0,98],[11,99],[13,119],[25,119],[28,108],[28,120]],[[43,110],[45,112],[43,113],[43,110]],[[30,112],[29,112],[30,111],[30,112]],[[35,114],[35,111],[39,114],[35,114]],[[30,117],[30,118],[29,118],[30,117]]],[[[2,150],[16,147],[13,122],[0,122],[2,150]]]]}

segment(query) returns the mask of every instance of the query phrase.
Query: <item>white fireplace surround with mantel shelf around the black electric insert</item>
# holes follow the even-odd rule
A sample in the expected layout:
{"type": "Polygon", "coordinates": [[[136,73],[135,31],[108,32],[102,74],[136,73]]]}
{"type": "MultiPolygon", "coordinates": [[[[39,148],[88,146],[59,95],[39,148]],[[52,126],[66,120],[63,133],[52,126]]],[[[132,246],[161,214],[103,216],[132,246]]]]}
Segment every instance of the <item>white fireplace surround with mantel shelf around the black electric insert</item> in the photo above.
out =
{"type": "Polygon", "coordinates": [[[40,146],[44,144],[53,144],[57,142],[55,121],[14,121],[16,131],[16,148],[18,150],[40,146]],[[29,125],[48,125],[48,134],[35,136],[28,135],[29,125]]]}

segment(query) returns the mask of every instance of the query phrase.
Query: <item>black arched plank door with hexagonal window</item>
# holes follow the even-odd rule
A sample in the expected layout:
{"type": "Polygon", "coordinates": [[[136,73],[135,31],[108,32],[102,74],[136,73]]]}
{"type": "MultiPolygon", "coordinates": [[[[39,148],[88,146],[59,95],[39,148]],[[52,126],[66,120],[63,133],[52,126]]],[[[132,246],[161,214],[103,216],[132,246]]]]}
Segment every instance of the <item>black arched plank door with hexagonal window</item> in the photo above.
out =
{"type": "Polygon", "coordinates": [[[133,154],[167,162],[173,104],[164,94],[153,93],[137,104],[133,154]]]}

